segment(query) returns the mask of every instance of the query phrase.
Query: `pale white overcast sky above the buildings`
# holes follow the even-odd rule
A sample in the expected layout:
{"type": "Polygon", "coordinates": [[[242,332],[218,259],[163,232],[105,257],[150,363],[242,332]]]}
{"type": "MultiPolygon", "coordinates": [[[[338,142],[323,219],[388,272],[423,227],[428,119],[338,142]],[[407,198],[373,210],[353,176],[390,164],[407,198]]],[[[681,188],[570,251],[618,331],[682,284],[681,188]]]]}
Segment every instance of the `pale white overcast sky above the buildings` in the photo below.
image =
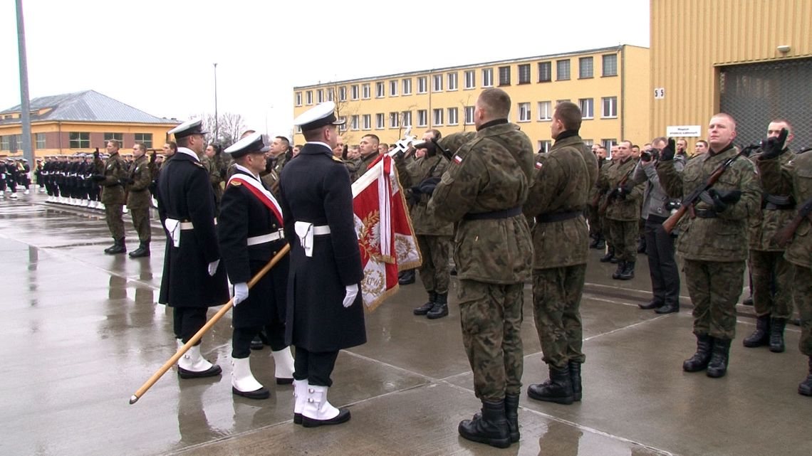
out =
{"type": "MultiPolygon", "coordinates": [[[[93,89],[158,117],[218,111],[290,131],[293,86],[649,45],[649,0],[24,0],[30,97],[93,89]]],[[[0,2],[0,110],[19,104],[15,2],[0,2]]]]}

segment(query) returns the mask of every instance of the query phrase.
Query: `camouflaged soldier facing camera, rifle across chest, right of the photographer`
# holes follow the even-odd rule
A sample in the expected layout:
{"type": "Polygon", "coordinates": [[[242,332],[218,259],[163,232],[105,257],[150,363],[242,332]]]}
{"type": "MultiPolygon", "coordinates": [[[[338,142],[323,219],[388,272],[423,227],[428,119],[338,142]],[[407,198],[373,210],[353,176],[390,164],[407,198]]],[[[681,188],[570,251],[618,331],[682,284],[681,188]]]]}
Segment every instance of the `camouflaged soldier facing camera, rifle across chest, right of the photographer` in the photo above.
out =
{"type": "MultiPolygon", "coordinates": [[[[739,153],[733,146],[736,121],[716,114],[708,126],[708,153],[689,160],[680,174],[664,150],[657,175],[668,196],[680,198],[698,188],[723,161],[739,153]]],[[[752,161],[739,158],[694,204],[692,217],[680,227],[677,253],[685,260],[685,282],[693,302],[697,351],[682,364],[685,372],[707,369],[724,376],[730,342],[736,335],[736,301],[744,282],[747,219],[758,209],[761,191],[752,161]]]]}

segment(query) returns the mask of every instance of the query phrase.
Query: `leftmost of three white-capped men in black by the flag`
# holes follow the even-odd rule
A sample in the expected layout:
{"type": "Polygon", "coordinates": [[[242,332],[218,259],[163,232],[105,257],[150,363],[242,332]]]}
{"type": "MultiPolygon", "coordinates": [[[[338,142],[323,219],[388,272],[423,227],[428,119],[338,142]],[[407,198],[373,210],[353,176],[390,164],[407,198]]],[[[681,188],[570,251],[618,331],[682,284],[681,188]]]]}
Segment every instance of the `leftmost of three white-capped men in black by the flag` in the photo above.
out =
{"type": "MultiPolygon", "coordinates": [[[[166,253],[158,302],[175,309],[175,338],[187,342],[205,325],[206,310],[226,303],[228,284],[220,264],[214,227],[214,195],[201,164],[205,131],[201,120],[180,124],[178,152],[158,179],[158,215],[166,228],[166,253]]],[[[178,361],[181,378],[222,372],[201,356],[200,342],[178,361]]]]}

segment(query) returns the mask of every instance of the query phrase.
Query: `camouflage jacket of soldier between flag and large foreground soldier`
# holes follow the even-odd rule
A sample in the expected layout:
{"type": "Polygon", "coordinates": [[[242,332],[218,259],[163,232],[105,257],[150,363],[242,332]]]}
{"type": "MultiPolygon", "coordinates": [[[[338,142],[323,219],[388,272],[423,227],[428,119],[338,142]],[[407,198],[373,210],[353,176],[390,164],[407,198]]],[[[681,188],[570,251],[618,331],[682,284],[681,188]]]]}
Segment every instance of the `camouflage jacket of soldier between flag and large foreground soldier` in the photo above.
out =
{"type": "MultiPolygon", "coordinates": [[[[420,185],[425,179],[442,176],[448,167],[448,161],[438,153],[434,157],[422,157],[408,163],[404,158],[395,158],[395,166],[397,166],[400,186],[404,189],[406,200],[413,200],[412,187],[420,185]]],[[[413,204],[409,211],[412,216],[414,234],[451,236],[454,234],[453,223],[440,221],[437,217],[426,213],[429,198],[430,196],[425,193],[418,194],[417,204],[413,204]]]]}

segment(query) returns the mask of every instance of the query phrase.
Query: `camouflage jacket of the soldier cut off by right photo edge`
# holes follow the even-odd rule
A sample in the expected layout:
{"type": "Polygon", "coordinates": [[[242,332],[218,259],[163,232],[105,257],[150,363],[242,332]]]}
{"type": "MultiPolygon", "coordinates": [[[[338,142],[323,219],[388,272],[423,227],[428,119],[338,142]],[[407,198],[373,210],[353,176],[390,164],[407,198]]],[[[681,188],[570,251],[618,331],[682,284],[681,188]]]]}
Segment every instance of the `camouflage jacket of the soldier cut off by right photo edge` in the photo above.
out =
{"type": "MultiPolygon", "coordinates": [[[[758,171],[764,190],[773,195],[791,194],[800,209],[812,198],[812,152],[801,153],[786,163],[781,157],[758,159],[758,171]]],[[[782,211],[793,213],[795,211],[782,211]]],[[[812,221],[806,217],[795,230],[792,242],[784,251],[784,259],[804,268],[812,268],[812,221]]]]}

